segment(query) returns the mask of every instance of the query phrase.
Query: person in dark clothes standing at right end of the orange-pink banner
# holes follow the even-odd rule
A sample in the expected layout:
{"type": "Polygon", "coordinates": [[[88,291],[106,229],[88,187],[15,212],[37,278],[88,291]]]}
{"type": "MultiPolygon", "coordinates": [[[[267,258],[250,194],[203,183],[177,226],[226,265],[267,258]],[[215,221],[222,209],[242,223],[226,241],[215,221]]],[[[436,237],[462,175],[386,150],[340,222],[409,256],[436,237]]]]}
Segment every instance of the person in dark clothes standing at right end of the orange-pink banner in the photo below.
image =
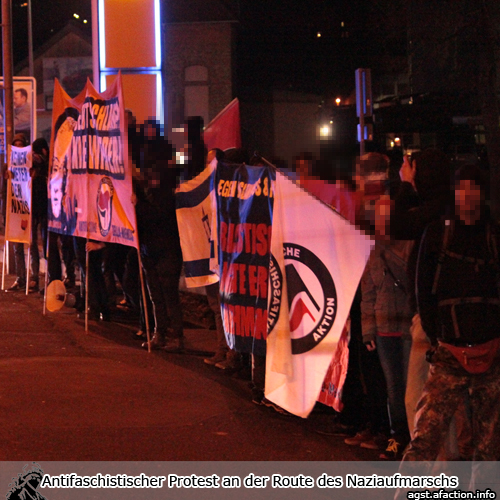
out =
{"type": "MultiPolygon", "coordinates": [[[[181,352],[184,349],[179,278],[182,252],[175,214],[175,188],[179,168],[172,146],[162,137],[159,125],[150,128],[141,154],[143,191],[137,192],[137,226],[142,265],[155,317],[153,349],[181,352]]],[[[148,343],[143,344],[144,348],[148,343]]]]}

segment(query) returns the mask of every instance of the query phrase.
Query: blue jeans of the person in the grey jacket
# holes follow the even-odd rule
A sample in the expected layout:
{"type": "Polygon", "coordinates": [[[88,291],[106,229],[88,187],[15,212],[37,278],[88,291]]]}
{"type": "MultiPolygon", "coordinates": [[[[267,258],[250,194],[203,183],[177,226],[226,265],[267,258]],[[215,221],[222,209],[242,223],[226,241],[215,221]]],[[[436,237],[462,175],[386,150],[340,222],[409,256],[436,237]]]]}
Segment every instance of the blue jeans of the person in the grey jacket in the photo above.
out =
{"type": "Polygon", "coordinates": [[[377,336],[377,352],[387,385],[391,434],[408,438],[405,391],[411,339],[377,336]]]}

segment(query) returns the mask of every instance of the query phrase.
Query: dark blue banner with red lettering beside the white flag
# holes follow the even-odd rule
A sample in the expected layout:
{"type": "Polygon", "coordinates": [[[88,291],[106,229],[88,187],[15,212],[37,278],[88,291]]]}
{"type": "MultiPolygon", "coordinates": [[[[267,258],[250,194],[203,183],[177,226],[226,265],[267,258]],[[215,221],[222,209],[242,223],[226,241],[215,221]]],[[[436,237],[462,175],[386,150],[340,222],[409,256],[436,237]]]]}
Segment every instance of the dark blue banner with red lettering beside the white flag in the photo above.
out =
{"type": "Polygon", "coordinates": [[[219,163],[215,179],[226,339],[231,349],[265,356],[275,169],[219,163]]]}

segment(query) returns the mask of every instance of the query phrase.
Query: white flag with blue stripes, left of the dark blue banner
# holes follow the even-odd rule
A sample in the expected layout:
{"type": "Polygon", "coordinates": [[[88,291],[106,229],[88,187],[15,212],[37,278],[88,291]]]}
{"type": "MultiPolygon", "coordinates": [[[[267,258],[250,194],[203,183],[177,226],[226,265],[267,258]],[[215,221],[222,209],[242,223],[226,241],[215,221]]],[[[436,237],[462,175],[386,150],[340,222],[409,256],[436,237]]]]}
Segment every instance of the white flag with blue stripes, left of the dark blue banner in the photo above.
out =
{"type": "Polygon", "coordinates": [[[176,190],[176,215],[188,288],[219,281],[219,276],[210,270],[216,167],[214,159],[203,172],[176,190]]]}

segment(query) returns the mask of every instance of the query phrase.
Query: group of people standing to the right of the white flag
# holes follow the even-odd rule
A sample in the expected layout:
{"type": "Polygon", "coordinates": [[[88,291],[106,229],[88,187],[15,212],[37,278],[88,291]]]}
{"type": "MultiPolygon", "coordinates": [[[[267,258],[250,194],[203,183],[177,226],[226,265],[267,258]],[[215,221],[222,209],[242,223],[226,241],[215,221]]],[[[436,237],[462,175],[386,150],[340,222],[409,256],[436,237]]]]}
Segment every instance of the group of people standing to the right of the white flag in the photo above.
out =
{"type": "MultiPolygon", "coordinates": [[[[360,167],[366,182],[389,159],[371,153],[360,167]]],[[[385,193],[365,186],[356,209],[376,245],[351,310],[345,410],[324,432],[382,459],[498,460],[499,233],[486,172],[453,171],[428,149],[399,174],[385,193]]]]}

